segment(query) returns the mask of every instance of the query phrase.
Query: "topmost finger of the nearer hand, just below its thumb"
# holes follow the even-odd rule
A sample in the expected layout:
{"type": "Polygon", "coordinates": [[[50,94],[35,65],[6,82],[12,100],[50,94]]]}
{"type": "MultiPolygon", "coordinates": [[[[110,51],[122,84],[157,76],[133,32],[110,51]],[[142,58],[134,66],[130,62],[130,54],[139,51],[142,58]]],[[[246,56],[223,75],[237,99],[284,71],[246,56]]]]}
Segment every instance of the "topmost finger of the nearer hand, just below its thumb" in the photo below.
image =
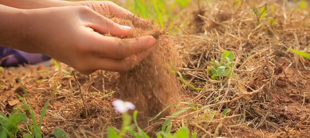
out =
{"type": "Polygon", "coordinates": [[[89,35],[88,51],[99,57],[123,59],[154,47],[156,43],[152,36],[120,39],[102,35],[89,35]]]}

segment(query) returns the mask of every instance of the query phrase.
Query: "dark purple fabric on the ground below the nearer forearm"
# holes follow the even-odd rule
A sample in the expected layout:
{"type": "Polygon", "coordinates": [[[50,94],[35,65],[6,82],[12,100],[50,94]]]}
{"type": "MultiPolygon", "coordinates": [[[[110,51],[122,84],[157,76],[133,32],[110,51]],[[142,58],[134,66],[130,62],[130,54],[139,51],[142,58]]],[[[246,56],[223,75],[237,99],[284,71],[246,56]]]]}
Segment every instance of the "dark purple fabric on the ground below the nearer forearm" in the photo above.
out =
{"type": "Polygon", "coordinates": [[[20,50],[0,47],[0,65],[3,67],[36,64],[50,59],[50,57],[42,54],[30,54],[20,50]]]}

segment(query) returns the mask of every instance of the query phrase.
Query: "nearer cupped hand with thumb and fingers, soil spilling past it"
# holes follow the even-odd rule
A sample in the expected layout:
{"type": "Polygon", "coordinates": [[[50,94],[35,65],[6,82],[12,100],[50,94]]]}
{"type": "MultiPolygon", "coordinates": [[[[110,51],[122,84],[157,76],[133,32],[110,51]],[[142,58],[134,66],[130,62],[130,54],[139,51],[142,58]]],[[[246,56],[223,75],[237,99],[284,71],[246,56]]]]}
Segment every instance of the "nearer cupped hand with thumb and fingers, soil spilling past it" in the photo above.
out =
{"type": "Polygon", "coordinates": [[[132,30],[86,6],[27,11],[25,26],[30,28],[22,32],[27,32],[23,42],[29,43],[18,48],[48,55],[83,74],[96,70],[128,71],[149,54],[156,42],[152,36],[120,39],[102,35],[127,36],[132,30]]]}

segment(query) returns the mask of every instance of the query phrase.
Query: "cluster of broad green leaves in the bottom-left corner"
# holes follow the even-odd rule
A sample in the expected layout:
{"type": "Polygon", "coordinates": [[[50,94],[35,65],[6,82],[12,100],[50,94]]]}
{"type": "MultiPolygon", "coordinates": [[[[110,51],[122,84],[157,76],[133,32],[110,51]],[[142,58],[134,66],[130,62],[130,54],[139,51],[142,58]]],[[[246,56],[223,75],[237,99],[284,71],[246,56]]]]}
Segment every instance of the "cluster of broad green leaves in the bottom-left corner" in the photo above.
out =
{"type": "Polygon", "coordinates": [[[0,113],[0,137],[16,137],[17,132],[20,131],[17,125],[22,122],[27,122],[25,113],[11,114],[9,118],[0,113]]]}

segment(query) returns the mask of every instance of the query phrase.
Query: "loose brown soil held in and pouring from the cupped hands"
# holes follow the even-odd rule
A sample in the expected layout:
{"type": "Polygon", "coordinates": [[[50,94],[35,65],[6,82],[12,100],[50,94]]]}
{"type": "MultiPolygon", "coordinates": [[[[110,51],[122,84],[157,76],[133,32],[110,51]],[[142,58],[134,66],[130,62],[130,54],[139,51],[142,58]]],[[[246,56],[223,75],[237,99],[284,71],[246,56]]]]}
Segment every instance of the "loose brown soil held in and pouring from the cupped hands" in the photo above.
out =
{"type": "MultiPolygon", "coordinates": [[[[146,116],[154,116],[166,106],[178,101],[180,81],[174,68],[180,65],[180,58],[167,35],[151,21],[135,16],[119,19],[119,24],[132,27],[131,38],[152,35],[157,39],[155,48],[133,70],[120,74],[120,99],[133,102],[146,116]]],[[[168,115],[165,112],[164,115],[168,115]],[[166,113],[166,114],[165,114],[166,113]]]]}

